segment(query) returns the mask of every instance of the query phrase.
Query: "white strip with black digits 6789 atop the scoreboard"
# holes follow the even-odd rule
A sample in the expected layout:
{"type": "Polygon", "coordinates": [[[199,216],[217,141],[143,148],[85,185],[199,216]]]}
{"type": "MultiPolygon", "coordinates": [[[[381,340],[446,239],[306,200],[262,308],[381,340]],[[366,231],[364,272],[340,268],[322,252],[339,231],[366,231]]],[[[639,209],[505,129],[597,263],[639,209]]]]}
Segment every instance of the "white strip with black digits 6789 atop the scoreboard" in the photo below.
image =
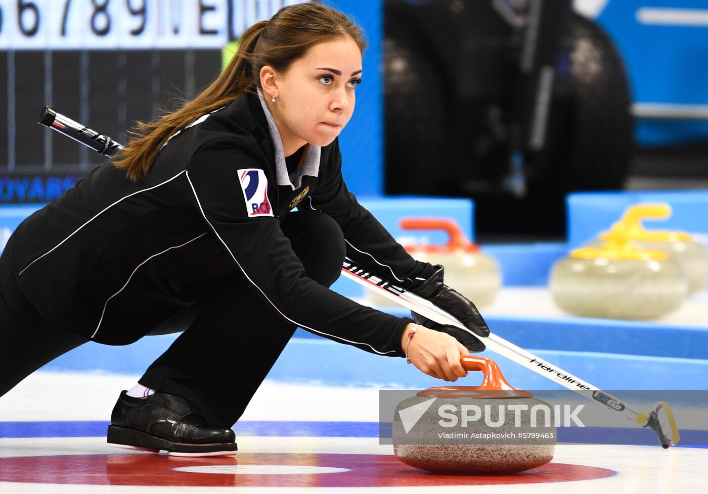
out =
{"type": "Polygon", "coordinates": [[[0,0],[1,49],[215,49],[288,0],[0,0]]]}

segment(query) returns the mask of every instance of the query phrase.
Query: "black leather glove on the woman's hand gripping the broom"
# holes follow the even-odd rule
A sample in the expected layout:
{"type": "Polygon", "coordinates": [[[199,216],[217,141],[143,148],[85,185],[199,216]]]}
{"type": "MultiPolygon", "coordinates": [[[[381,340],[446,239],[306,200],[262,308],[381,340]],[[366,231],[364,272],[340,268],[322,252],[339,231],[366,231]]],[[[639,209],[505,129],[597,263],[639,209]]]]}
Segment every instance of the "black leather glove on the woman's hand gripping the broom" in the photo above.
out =
{"type": "MultiPolygon", "coordinates": [[[[442,278],[443,276],[445,276],[445,268],[443,268],[440,264],[436,264],[435,266],[433,266],[433,268],[435,268],[435,271],[430,276],[430,278],[428,278],[426,281],[423,281],[423,283],[421,283],[416,288],[413,288],[413,290],[411,291],[413,293],[416,293],[416,295],[420,295],[421,297],[430,300],[430,302],[433,302],[441,309],[450,312],[450,314],[459,319],[459,322],[462,322],[462,324],[464,324],[464,326],[467,327],[467,329],[472,331],[474,334],[484,337],[489,336],[489,327],[487,327],[486,322],[484,322],[484,319],[482,319],[481,315],[479,314],[479,311],[476,307],[474,307],[474,304],[467,300],[467,298],[464,298],[462,295],[457,293],[455,290],[452,290],[452,288],[450,288],[449,286],[445,285],[445,283],[442,283],[442,278]]],[[[421,317],[419,314],[413,314],[413,319],[415,319],[416,323],[423,324],[422,322],[418,321],[418,319],[416,319],[416,316],[418,318],[421,317]]],[[[423,324],[423,326],[426,326],[426,324],[423,324]]],[[[442,325],[440,325],[440,327],[447,328],[447,326],[442,325]]],[[[462,334],[467,334],[465,333],[465,331],[462,331],[460,329],[457,329],[457,331],[462,334]]],[[[462,343],[464,346],[467,346],[467,344],[465,344],[465,341],[460,339],[457,334],[453,334],[450,331],[445,332],[452,334],[452,336],[455,336],[455,338],[457,338],[457,341],[462,343]]],[[[472,335],[468,334],[468,336],[474,338],[474,336],[472,335]]],[[[472,348],[469,348],[469,351],[474,350],[472,348]]]]}

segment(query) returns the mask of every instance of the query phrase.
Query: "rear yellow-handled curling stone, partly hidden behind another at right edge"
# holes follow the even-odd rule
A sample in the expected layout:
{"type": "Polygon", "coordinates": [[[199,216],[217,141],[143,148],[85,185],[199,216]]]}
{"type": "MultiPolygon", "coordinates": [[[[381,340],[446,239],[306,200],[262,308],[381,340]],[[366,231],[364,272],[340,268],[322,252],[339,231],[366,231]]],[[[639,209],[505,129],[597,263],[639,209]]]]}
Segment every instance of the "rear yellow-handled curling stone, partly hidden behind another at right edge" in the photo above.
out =
{"type": "MultiPolygon", "coordinates": [[[[646,230],[641,223],[643,219],[668,218],[671,207],[668,204],[639,204],[631,206],[624,212],[622,218],[612,225],[610,232],[600,235],[606,240],[619,232],[621,235],[634,242],[639,249],[660,250],[666,252],[671,261],[677,262],[683,269],[686,278],[688,293],[704,290],[708,284],[708,250],[706,247],[693,240],[693,237],[680,231],[646,230]]],[[[593,242],[591,246],[600,245],[600,241],[593,242]]]]}

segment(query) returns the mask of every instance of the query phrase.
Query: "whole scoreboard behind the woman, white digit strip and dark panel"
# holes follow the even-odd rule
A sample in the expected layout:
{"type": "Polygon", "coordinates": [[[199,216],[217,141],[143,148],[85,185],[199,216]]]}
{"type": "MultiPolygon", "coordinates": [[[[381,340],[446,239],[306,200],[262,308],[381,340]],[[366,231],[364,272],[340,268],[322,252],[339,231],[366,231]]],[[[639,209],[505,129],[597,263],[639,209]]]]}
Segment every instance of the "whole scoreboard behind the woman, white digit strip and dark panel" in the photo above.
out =
{"type": "Polygon", "coordinates": [[[45,202],[103,157],[45,105],[118,141],[219,73],[222,47],[297,0],[0,0],[0,202],[45,202]]]}

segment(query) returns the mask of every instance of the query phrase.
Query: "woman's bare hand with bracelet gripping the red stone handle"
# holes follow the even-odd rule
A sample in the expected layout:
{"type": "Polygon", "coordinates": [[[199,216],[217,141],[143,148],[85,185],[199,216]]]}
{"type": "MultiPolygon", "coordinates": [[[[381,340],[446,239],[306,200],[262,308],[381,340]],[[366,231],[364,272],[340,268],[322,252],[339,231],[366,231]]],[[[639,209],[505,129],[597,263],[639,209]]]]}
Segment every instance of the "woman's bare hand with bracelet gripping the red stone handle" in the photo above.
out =
{"type": "Polygon", "coordinates": [[[467,376],[459,358],[469,355],[467,348],[447,333],[435,331],[424,326],[418,326],[411,341],[408,335],[418,324],[408,324],[401,336],[401,348],[408,344],[408,358],[411,363],[424,374],[445,381],[457,381],[459,377],[467,376]]]}

